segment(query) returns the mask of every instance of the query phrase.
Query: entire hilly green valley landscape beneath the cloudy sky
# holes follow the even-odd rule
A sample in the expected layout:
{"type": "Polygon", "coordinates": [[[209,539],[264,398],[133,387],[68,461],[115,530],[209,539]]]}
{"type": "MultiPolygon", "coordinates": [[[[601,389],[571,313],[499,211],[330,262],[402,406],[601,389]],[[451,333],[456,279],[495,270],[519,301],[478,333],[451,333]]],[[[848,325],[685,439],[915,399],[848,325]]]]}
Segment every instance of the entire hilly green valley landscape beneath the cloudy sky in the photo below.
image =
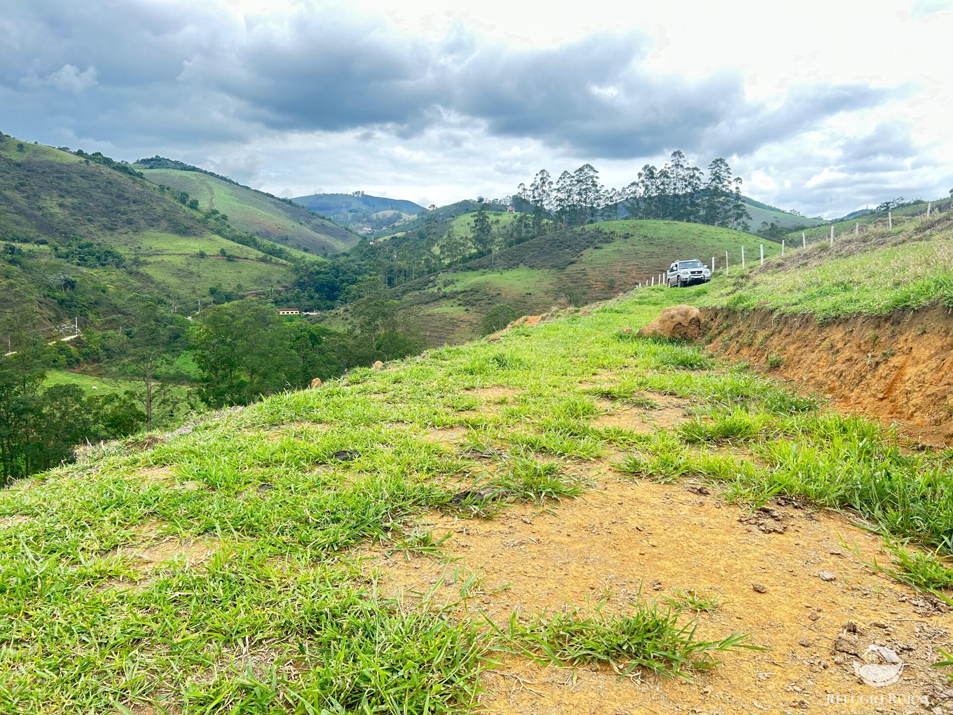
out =
{"type": "Polygon", "coordinates": [[[897,665],[953,710],[943,201],[803,248],[482,201],[358,238],[19,144],[0,709],[866,713],[830,698],[897,665]]]}

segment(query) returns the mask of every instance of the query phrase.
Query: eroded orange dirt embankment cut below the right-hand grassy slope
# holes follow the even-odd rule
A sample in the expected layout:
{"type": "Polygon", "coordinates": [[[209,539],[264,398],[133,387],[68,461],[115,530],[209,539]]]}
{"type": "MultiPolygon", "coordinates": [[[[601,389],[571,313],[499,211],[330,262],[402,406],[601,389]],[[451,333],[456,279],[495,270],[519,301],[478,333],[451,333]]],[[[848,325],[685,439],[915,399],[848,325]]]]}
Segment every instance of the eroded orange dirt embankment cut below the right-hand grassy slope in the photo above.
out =
{"type": "Polygon", "coordinates": [[[839,407],[953,442],[953,312],[943,306],[819,324],[811,316],[707,310],[711,349],[797,380],[839,407]]]}

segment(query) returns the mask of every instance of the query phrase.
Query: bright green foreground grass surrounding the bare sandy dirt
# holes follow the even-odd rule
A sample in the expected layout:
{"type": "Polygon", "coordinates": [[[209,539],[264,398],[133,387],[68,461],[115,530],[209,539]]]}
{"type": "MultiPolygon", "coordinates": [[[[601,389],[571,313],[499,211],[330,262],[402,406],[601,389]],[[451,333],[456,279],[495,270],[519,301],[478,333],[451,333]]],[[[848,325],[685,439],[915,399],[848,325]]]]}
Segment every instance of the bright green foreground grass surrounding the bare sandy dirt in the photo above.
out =
{"type": "MultiPolygon", "coordinates": [[[[0,491],[0,711],[461,713],[512,653],[690,675],[757,643],[696,638],[684,617],[709,604],[697,594],[612,615],[569,604],[517,617],[511,632],[504,614],[497,630],[433,593],[381,595],[353,550],[436,555],[438,541],[415,533],[435,510],[493,516],[533,501],[558,513],[618,452],[619,479],[701,480],[749,506],[784,495],[953,553],[947,453],[910,453],[874,423],[685,346],[619,339],[689,293],[645,290],[497,342],[353,370],[150,449],[139,438],[87,449],[29,489],[0,491]],[[491,386],[506,397],[479,391],[491,386]],[[699,419],[649,435],[601,429],[598,394],[679,396],[699,419]],[[447,427],[466,438],[429,439],[447,427]],[[353,459],[335,459],[342,450],[353,459]],[[457,499],[485,487],[492,498],[457,499]],[[178,547],[143,568],[136,550],[159,543],[178,547]],[[189,562],[202,544],[208,558],[189,562]]],[[[459,598],[481,592],[480,578],[461,577],[459,598]]]]}

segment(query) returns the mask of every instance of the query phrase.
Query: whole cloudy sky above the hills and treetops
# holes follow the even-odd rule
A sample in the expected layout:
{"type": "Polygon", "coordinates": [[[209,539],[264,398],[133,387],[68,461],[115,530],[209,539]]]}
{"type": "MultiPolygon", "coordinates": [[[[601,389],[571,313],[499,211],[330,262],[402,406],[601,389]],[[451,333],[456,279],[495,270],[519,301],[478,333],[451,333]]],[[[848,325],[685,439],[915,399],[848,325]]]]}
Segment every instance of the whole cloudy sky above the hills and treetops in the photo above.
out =
{"type": "Polygon", "coordinates": [[[5,0],[0,130],[287,196],[621,187],[676,149],[805,215],[953,187],[953,0],[397,5],[5,0]]]}

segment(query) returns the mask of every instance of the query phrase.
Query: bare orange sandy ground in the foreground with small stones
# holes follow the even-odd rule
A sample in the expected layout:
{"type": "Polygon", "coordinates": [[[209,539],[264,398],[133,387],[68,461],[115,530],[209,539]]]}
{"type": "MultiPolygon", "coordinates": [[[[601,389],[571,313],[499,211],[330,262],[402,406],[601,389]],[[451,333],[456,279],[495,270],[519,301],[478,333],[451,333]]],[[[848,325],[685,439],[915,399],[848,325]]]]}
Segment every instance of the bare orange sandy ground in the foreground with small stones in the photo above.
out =
{"type": "Polygon", "coordinates": [[[602,600],[622,613],[639,593],[695,589],[724,602],[698,616],[700,639],[743,632],[770,649],[727,653],[693,683],[644,673],[619,682],[607,666],[511,660],[485,678],[486,712],[953,712],[953,682],[930,666],[938,648],[949,648],[953,615],[864,565],[886,561],[881,540],[847,516],[790,503],[748,513],[700,485],[622,480],[605,462],[589,476],[595,489],[555,508],[519,505],[494,520],[422,519],[435,537],[450,532],[444,550],[455,561],[371,550],[366,567],[379,569],[391,593],[415,599],[439,583],[436,595],[443,591],[448,602],[459,598],[461,574],[477,574],[483,581],[467,607],[498,622],[514,609],[602,600]],[[900,682],[860,681],[854,664],[863,664],[871,644],[900,654],[900,682]]]}

